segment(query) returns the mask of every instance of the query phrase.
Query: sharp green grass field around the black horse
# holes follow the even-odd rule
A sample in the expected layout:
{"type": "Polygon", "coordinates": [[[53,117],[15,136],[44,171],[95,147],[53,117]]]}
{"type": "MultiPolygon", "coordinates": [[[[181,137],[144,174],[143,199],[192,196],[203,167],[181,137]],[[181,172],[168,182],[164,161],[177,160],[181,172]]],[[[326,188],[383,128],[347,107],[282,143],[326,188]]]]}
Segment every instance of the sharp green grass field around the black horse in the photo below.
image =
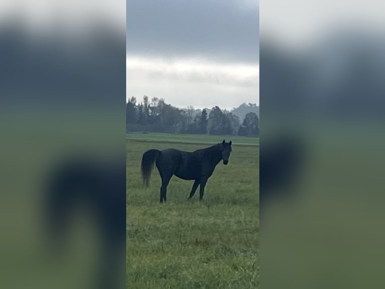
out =
{"type": "Polygon", "coordinates": [[[259,285],[259,143],[231,137],[229,164],[218,164],[203,202],[187,197],[193,181],[172,177],[159,203],[155,169],[142,186],[149,149],[194,151],[229,137],[127,134],[127,288],[257,288],[259,285]],[[166,142],[169,141],[169,142],[166,142]]]}

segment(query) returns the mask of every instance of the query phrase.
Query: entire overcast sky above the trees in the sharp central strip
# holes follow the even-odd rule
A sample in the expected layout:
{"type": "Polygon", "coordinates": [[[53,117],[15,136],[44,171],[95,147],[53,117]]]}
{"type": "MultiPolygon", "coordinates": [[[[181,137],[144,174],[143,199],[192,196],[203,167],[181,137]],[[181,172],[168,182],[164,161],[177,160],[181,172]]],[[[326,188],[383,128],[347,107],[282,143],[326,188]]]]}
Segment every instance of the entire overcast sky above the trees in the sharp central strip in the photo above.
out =
{"type": "Polygon", "coordinates": [[[127,1],[127,98],[259,104],[259,0],[127,1]]]}

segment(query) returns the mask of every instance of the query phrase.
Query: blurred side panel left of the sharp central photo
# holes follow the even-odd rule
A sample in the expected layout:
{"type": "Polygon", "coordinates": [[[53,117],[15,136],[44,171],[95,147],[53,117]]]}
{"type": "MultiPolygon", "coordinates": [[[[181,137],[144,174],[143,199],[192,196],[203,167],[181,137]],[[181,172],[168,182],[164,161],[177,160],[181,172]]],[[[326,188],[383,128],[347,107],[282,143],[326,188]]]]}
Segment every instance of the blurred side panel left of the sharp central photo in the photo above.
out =
{"type": "Polygon", "coordinates": [[[124,8],[2,3],[2,288],[125,287],[124,8]]]}

